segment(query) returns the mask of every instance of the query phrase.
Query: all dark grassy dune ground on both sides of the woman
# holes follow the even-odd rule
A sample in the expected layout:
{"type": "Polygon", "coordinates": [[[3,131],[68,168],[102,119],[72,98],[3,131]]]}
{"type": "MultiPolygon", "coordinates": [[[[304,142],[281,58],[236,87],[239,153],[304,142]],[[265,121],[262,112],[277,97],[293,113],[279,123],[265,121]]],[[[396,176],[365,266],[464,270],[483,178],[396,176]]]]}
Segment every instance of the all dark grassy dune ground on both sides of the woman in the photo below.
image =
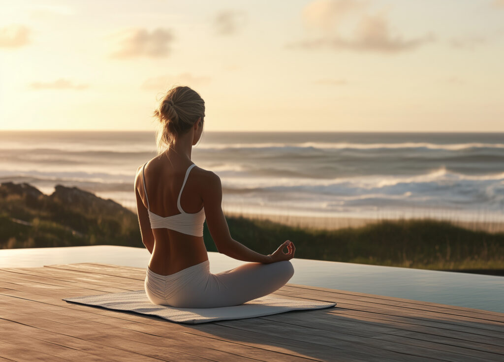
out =
{"type": "MultiPolygon", "coordinates": [[[[10,187],[0,187],[0,249],[144,247],[137,215],[111,200],[75,188],[60,188],[58,195],[32,192],[30,196],[24,191],[16,194],[10,187]]],[[[295,257],[301,259],[438,270],[504,270],[504,233],[473,231],[448,221],[382,220],[358,228],[316,230],[243,216],[226,219],[233,239],[262,254],[291,240],[295,257]]],[[[206,222],[204,241],[208,251],[217,251],[206,222]]]]}

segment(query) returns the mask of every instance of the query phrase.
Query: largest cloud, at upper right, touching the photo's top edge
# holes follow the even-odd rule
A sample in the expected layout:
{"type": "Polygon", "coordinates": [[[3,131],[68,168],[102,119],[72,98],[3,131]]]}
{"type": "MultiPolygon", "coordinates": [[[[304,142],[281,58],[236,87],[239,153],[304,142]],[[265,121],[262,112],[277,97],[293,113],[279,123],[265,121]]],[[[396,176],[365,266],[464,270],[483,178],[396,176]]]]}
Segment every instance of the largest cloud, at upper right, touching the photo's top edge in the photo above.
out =
{"type": "Polygon", "coordinates": [[[316,0],[306,6],[302,16],[305,24],[322,30],[322,36],[292,42],[287,47],[397,53],[434,40],[432,34],[410,39],[394,34],[385,15],[365,14],[367,8],[367,2],[357,0],[316,0]],[[354,27],[342,35],[344,23],[352,21],[354,27]]]}

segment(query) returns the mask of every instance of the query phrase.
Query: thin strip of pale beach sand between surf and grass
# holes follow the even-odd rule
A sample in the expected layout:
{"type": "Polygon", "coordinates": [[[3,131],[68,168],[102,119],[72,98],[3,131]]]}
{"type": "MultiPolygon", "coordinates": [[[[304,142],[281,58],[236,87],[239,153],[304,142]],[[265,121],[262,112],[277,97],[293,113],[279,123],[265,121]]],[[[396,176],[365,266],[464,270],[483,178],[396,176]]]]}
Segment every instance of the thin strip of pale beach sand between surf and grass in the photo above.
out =
{"type": "MultiPolygon", "coordinates": [[[[331,217],[317,217],[317,216],[293,216],[293,215],[273,215],[273,214],[253,214],[244,212],[226,212],[226,216],[253,219],[253,220],[270,220],[275,223],[297,226],[301,228],[312,229],[325,229],[337,230],[342,228],[358,228],[368,224],[380,223],[383,220],[404,220],[404,219],[364,219],[364,218],[331,218],[331,217]]],[[[419,218],[420,219],[420,218],[419,218]]],[[[418,219],[417,219],[418,220],[418,219]]],[[[444,220],[443,220],[444,221],[444,220]]],[[[450,223],[460,226],[465,229],[475,231],[486,231],[489,233],[502,233],[504,232],[504,222],[478,222],[478,221],[459,221],[459,220],[446,220],[450,223]]]]}

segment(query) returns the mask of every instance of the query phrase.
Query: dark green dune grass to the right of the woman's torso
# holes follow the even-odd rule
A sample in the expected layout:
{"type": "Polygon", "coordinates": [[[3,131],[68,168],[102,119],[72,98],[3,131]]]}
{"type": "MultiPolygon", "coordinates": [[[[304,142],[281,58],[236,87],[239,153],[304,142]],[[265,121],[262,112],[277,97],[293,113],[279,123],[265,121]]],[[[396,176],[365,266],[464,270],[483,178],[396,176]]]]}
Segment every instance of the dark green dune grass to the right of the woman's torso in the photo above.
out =
{"type": "MultiPolygon", "coordinates": [[[[301,259],[422,269],[504,269],[504,233],[467,230],[446,221],[383,220],[326,231],[243,217],[227,220],[233,239],[263,254],[290,240],[296,246],[295,257],[301,259]]],[[[206,227],[204,232],[208,250],[216,251],[206,227]]]]}

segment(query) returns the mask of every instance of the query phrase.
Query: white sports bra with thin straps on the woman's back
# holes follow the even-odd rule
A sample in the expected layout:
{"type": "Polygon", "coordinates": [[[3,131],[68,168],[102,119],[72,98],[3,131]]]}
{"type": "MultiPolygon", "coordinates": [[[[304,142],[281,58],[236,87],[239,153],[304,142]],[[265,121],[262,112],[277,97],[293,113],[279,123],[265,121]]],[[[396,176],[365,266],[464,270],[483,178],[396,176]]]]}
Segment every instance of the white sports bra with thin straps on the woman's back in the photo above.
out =
{"type": "Polygon", "coordinates": [[[205,206],[201,208],[200,211],[196,213],[187,213],[184,210],[182,210],[182,206],[180,206],[180,195],[182,194],[182,190],[185,186],[185,181],[187,180],[187,176],[189,176],[189,172],[191,169],[196,166],[195,164],[192,164],[187,168],[187,171],[185,172],[185,178],[184,182],[182,183],[182,187],[180,188],[180,192],[178,193],[178,199],[177,199],[177,207],[180,213],[177,213],[176,215],[171,215],[171,216],[166,216],[166,218],[163,218],[163,216],[159,216],[158,214],[155,214],[150,210],[150,205],[149,205],[149,198],[147,197],[147,189],[145,187],[145,165],[142,168],[142,178],[144,181],[144,192],[145,192],[145,198],[147,199],[147,211],[149,212],[149,221],[151,223],[151,229],[170,229],[170,230],[175,230],[178,231],[179,233],[182,234],[188,234],[188,235],[194,235],[194,236],[203,236],[203,223],[205,222],[205,206]]]}

